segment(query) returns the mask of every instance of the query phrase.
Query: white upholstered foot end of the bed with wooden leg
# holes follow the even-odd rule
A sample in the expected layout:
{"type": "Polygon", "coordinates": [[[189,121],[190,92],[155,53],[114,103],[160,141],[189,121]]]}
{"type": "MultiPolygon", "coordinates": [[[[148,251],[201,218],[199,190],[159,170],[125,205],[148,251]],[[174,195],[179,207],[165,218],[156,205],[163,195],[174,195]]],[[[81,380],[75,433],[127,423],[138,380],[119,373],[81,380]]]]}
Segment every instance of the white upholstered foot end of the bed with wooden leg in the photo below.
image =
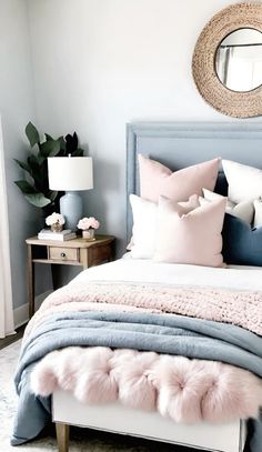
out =
{"type": "Polygon", "coordinates": [[[175,424],[158,412],[124,408],[120,403],[84,405],[66,391],[53,394],[53,421],[57,426],[59,452],[68,452],[69,425],[84,426],[112,433],[141,436],[202,451],[243,452],[243,421],[225,424],[175,424]]]}

